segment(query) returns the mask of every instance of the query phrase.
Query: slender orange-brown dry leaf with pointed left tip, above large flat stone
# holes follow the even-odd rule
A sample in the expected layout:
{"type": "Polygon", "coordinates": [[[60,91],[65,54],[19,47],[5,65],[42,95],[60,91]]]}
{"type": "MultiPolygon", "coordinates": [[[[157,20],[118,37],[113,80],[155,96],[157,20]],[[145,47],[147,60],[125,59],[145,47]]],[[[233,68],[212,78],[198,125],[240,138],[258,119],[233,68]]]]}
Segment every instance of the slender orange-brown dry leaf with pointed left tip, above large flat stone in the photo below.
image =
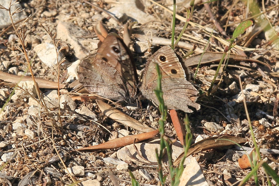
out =
{"type": "Polygon", "coordinates": [[[147,133],[141,133],[141,134],[137,134],[137,135],[130,135],[130,136],[122,137],[122,138],[116,138],[116,139],[110,140],[108,142],[99,144],[99,145],[80,148],[80,149],[76,149],[76,150],[83,151],[83,150],[115,149],[115,148],[124,147],[126,145],[131,145],[133,143],[137,143],[137,142],[140,142],[140,141],[151,139],[154,136],[156,136],[157,134],[159,134],[159,130],[153,130],[153,131],[147,132],[147,133]]]}

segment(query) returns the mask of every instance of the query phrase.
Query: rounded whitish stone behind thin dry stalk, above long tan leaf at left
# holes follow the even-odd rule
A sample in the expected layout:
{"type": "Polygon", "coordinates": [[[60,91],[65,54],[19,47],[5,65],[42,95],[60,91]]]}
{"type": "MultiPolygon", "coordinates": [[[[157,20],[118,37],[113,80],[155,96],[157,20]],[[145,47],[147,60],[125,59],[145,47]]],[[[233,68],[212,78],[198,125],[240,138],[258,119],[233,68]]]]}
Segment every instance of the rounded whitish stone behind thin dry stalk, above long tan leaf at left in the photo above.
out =
{"type": "MultiPolygon", "coordinates": [[[[57,49],[58,51],[59,49],[57,49]]],[[[57,64],[56,48],[52,43],[41,43],[34,47],[34,51],[43,63],[52,68],[57,64]]],[[[64,58],[63,53],[59,53],[58,61],[60,62],[64,58]]]]}

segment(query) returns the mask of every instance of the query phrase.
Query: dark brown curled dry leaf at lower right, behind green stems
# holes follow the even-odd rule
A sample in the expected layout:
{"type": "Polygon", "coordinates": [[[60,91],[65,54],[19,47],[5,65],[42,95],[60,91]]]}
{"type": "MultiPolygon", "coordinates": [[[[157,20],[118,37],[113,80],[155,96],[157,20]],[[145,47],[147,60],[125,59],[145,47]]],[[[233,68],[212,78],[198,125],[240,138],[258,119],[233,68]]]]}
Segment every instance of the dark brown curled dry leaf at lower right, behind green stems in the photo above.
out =
{"type": "MultiPolygon", "coordinates": [[[[225,147],[229,145],[235,145],[234,142],[245,143],[247,142],[247,139],[236,137],[236,136],[229,136],[229,135],[206,138],[191,145],[186,157],[188,157],[191,154],[198,153],[204,150],[215,149],[215,148],[225,147]]],[[[174,161],[173,164],[174,166],[177,166],[180,163],[183,155],[184,153],[180,154],[179,157],[177,157],[177,159],[174,161]]]]}

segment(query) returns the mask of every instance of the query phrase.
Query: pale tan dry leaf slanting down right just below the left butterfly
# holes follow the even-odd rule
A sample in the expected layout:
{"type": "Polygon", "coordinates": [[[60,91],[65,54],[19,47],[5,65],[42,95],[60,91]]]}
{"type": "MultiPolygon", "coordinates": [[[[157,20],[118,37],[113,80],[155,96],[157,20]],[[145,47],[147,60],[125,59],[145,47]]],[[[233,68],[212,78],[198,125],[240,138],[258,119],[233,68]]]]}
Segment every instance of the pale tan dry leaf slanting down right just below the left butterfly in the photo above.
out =
{"type": "Polygon", "coordinates": [[[103,102],[102,100],[96,100],[96,102],[97,102],[100,110],[104,113],[104,115],[111,118],[112,120],[115,120],[119,123],[122,123],[123,125],[125,125],[127,127],[131,127],[135,130],[138,130],[138,131],[144,132],[144,133],[155,130],[153,128],[144,126],[139,121],[122,113],[120,110],[113,108],[112,106],[108,105],[107,103],[103,102]]]}

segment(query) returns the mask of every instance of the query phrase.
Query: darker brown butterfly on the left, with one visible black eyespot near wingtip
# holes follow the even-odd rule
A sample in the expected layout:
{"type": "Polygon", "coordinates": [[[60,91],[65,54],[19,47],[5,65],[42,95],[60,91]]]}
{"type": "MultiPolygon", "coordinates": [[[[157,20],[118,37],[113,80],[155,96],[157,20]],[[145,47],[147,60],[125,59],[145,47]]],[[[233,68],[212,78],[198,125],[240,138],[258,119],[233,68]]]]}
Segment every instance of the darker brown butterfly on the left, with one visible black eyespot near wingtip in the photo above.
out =
{"type": "Polygon", "coordinates": [[[138,78],[130,50],[116,33],[110,33],[96,56],[82,60],[78,67],[80,83],[90,93],[113,100],[133,101],[138,78]]]}

